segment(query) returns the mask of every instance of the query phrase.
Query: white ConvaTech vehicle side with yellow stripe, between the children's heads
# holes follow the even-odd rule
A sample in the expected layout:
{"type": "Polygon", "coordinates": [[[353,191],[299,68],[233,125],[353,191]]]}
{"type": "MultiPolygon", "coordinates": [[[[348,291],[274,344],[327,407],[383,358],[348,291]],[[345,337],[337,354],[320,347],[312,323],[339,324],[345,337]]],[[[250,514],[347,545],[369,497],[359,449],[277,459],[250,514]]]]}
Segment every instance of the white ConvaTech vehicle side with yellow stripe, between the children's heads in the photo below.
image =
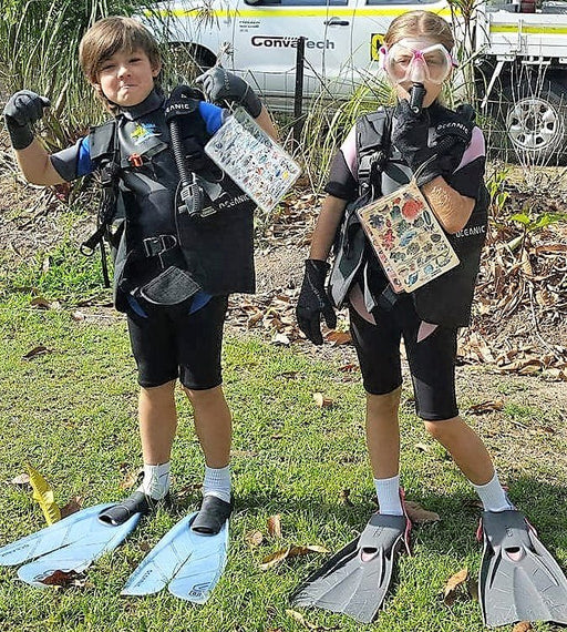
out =
{"type": "Polygon", "coordinates": [[[303,95],[328,90],[329,96],[346,96],[375,75],[390,22],[413,9],[451,20],[445,0],[182,0],[156,3],[152,29],[165,26],[169,42],[189,43],[200,65],[220,61],[272,106],[279,100],[287,109],[295,91],[297,38],[306,39],[303,95]]]}

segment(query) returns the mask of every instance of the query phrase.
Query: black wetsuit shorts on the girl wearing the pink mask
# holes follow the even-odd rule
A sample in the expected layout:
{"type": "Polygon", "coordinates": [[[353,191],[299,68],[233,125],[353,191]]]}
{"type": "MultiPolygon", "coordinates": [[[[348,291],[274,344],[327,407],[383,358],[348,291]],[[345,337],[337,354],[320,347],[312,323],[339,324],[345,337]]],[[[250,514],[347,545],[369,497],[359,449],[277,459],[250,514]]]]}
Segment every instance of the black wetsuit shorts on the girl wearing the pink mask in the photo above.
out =
{"type": "Polygon", "coordinates": [[[415,394],[416,414],[427,421],[458,415],[455,397],[455,328],[437,326],[417,343],[422,323],[413,299],[401,295],[390,310],[372,310],[375,325],[350,308],[350,330],[357,349],[364,389],[385,395],[402,385],[400,342],[403,336],[415,394]]]}

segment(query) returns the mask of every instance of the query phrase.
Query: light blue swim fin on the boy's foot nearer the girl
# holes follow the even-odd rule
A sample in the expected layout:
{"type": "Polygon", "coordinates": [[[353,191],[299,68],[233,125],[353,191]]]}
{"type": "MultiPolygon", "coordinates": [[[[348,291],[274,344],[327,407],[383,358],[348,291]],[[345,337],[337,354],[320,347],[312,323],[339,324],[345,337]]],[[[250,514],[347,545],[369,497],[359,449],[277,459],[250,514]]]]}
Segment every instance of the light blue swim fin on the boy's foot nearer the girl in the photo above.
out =
{"type": "Polygon", "coordinates": [[[179,599],[205,603],[226,565],[228,520],[215,536],[196,533],[187,516],[168,531],[128,578],[121,594],[153,594],[167,587],[179,599]]]}

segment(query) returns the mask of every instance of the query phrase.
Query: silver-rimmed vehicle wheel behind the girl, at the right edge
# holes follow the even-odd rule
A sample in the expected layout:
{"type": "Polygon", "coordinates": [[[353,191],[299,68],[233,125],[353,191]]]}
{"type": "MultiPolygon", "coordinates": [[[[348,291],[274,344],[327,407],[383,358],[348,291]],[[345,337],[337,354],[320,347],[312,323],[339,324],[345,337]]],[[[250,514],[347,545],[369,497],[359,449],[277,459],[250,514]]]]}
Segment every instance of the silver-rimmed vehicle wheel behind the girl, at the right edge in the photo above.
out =
{"type": "Polygon", "coordinates": [[[503,98],[499,118],[518,162],[544,165],[567,156],[567,90],[561,84],[508,84],[503,98]]]}

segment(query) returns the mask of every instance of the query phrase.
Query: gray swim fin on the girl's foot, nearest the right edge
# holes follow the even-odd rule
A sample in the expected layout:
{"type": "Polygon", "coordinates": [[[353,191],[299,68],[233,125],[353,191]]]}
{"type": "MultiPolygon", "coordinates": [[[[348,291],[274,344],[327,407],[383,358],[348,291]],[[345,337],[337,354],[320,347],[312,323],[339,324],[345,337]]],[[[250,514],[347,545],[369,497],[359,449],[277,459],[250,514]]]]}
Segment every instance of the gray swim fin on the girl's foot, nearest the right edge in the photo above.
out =
{"type": "Polygon", "coordinates": [[[486,625],[567,624],[567,579],[535,529],[515,510],[484,511],[478,595],[486,625]]]}

